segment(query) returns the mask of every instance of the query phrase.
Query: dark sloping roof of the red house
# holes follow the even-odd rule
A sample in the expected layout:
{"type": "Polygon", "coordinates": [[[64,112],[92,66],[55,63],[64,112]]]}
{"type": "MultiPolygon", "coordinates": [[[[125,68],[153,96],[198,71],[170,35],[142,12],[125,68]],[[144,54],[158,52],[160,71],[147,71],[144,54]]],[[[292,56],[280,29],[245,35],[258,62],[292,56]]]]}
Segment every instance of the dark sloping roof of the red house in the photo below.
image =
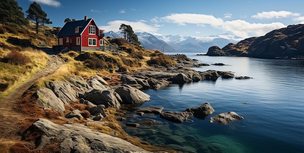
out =
{"type": "Polygon", "coordinates": [[[85,27],[92,21],[92,18],[87,20],[77,20],[67,22],[62,29],[57,33],[57,37],[60,36],[72,36],[72,35],[80,35],[85,27]],[[75,33],[75,27],[79,27],[79,32],[75,33]]]}

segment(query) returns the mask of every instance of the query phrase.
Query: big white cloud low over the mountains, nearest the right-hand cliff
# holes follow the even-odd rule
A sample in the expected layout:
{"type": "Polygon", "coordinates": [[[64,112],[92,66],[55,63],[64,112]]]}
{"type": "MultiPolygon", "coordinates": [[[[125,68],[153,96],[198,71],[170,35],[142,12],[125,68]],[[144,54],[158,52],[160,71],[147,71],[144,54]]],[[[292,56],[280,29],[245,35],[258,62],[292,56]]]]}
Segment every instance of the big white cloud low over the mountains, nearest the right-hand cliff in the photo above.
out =
{"type": "Polygon", "coordinates": [[[270,24],[249,23],[244,20],[226,21],[222,28],[224,31],[230,31],[236,36],[249,38],[252,36],[263,36],[266,33],[286,27],[283,23],[274,22],[270,24]]]}

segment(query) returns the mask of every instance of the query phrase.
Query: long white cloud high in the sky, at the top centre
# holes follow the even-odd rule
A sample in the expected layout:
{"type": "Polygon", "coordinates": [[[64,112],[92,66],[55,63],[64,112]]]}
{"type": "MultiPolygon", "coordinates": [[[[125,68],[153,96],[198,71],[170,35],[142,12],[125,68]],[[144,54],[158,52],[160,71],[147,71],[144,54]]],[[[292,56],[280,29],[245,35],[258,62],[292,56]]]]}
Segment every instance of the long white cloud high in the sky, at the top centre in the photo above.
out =
{"type": "Polygon", "coordinates": [[[202,15],[202,14],[171,14],[165,17],[155,17],[152,20],[158,20],[169,23],[177,23],[181,26],[186,26],[186,24],[197,24],[204,25],[210,24],[213,27],[217,27],[223,24],[221,18],[216,18],[213,15],[202,15]]]}

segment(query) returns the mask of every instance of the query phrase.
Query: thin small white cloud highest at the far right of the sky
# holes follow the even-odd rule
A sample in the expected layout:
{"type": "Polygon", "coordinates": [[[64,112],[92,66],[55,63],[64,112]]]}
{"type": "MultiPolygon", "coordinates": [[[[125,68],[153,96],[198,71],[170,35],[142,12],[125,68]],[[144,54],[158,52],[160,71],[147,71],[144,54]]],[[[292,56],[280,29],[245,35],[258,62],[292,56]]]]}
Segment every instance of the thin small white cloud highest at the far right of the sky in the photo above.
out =
{"type": "Polygon", "coordinates": [[[252,18],[258,18],[258,19],[272,19],[272,18],[287,18],[289,16],[300,16],[299,13],[292,13],[287,11],[270,11],[270,12],[262,12],[257,13],[256,15],[252,15],[252,18]]]}

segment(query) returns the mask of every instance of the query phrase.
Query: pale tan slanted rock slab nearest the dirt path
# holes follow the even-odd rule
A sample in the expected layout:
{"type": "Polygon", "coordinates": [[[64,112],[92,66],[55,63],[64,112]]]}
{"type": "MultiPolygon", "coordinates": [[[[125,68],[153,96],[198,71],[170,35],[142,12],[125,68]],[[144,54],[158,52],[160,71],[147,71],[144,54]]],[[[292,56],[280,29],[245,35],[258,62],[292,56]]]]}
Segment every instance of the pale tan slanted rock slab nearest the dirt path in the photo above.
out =
{"type": "Polygon", "coordinates": [[[34,96],[37,98],[36,104],[38,106],[50,108],[59,113],[65,112],[64,102],[51,89],[38,89],[34,96]]]}

